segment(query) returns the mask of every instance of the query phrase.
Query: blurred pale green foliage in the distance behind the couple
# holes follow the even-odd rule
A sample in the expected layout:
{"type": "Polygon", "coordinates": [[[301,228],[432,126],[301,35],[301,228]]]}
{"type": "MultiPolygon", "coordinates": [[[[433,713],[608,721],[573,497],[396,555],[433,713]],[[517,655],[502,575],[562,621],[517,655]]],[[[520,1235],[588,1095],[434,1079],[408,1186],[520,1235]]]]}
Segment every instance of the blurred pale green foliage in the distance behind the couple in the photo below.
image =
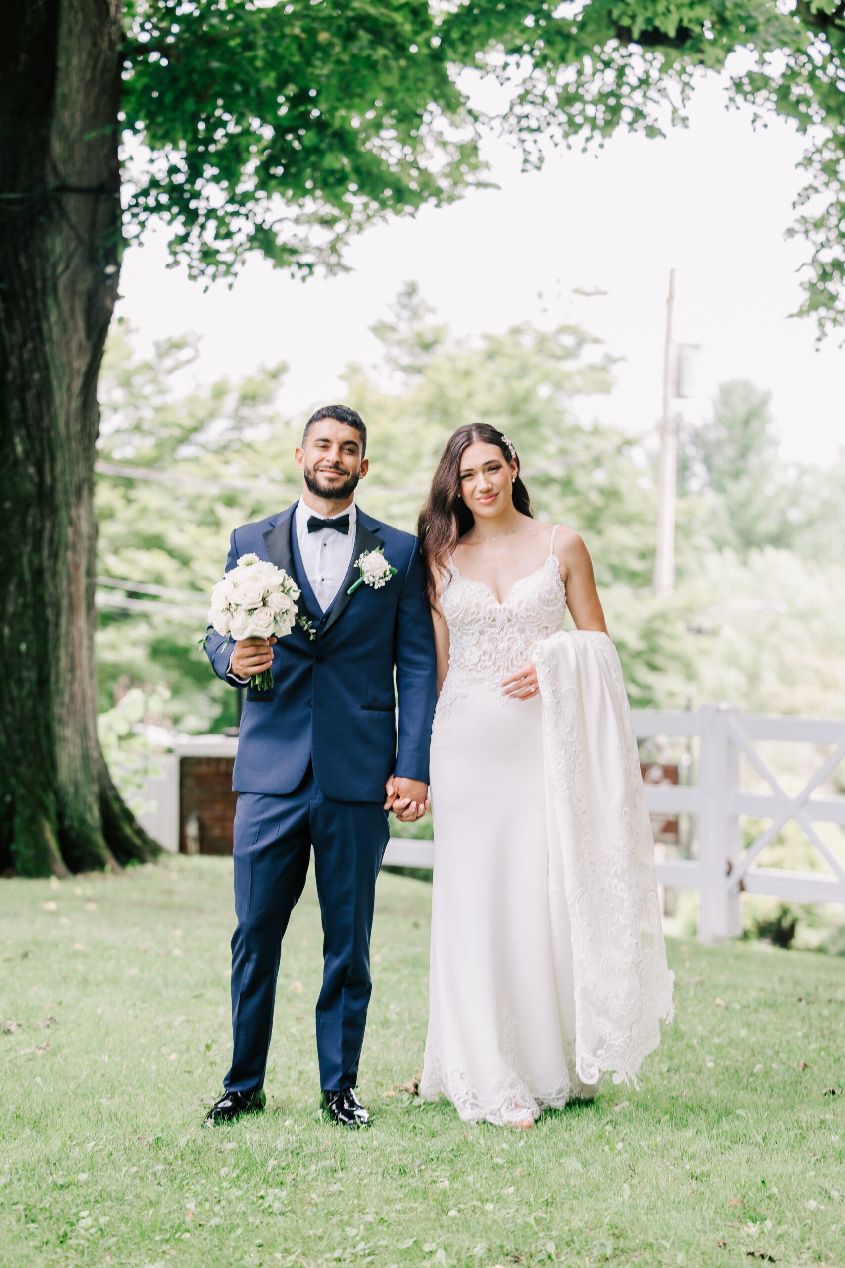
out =
{"type": "MultiPolygon", "coordinates": [[[[764,393],[723,384],[712,420],[684,430],[678,585],[658,600],[656,436],[579,422],[613,385],[598,340],[530,325],[454,339],[413,284],[374,330],[381,370],[346,374],[346,401],[369,429],[366,510],[413,530],[447,436],[492,422],[517,446],[536,514],[584,536],[635,708],[728,699],[760,713],[845,714],[845,463],[783,463],[764,393]]],[[[143,360],[124,326],[111,336],[100,460],[176,483],[98,478],[99,571],[142,587],[103,586],[100,600],[143,605],[101,609],[98,652],[104,710],[129,689],[157,691],[144,720],[200,732],[234,721],[234,692],[196,648],[208,595],[231,530],[298,496],[302,420],[274,403],[284,365],[180,393],[193,356],[186,339],[143,360]]]]}

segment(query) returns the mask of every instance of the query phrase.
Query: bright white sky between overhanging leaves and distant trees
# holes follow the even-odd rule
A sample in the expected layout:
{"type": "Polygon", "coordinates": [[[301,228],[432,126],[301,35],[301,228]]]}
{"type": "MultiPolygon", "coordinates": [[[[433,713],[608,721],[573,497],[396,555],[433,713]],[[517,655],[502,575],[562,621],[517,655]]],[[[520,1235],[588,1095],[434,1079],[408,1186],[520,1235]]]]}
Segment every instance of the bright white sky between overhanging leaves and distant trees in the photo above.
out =
{"type": "Polygon", "coordinates": [[[845,445],[845,350],[836,336],[817,350],[813,322],[788,317],[808,254],[783,237],[803,150],[788,122],[754,132],[750,112],[726,113],[711,79],[694,95],[689,129],[665,141],[621,133],[589,155],[551,151],[542,172],[522,174],[516,151],[488,139],[500,189],[369,230],[342,276],[303,284],[253,257],[232,290],[218,283],[204,293],[182,270],[165,269],[165,240],[151,236],[127,252],[118,313],[137,328],[141,350],[199,333],[199,382],[289,361],[280,403],[293,413],[342,399],[338,374],[348,361],[378,359],[369,327],[416,279],[436,320],[461,335],[581,322],[625,358],[613,394],[579,403],[583,421],[640,434],[661,410],[674,268],[675,337],[702,345],[701,396],[751,379],[773,394],[784,456],[829,463],[845,445]],[[574,287],[607,295],[579,297],[574,287]]]}

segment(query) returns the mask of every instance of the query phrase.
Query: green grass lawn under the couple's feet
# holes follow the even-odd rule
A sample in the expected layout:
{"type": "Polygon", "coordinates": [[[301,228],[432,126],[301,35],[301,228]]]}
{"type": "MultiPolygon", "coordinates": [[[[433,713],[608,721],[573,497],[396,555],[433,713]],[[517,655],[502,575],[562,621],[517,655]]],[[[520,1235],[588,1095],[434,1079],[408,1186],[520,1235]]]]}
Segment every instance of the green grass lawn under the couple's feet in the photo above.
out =
{"type": "MultiPolygon", "coordinates": [[[[640,1087],[530,1132],[394,1084],[422,1064],[431,889],[383,875],[360,1093],[317,1111],[313,886],[279,975],[267,1112],[201,1130],[229,1056],[231,861],[0,881],[0,1264],[845,1268],[845,962],[673,943],[640,1087]],[[806,1063],[806,1065],[804,1065],[806,1063]]],[[[460,971],[460,966],[456,966],[460,971]]]]}

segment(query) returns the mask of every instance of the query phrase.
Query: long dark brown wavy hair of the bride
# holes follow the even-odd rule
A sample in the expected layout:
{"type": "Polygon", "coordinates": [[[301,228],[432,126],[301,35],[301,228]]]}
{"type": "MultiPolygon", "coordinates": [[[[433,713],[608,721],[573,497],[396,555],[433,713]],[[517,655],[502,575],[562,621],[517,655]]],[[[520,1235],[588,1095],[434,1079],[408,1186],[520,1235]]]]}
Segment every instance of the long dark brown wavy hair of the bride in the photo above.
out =
{"type": "Polygon", "coordinates": [[[516,459],[517,478],[513,483],[513,505],[522,515],[533,517],[528,489],[519,478],[519,456],[516,450],[511,451],[503,432],[490,427],[486,422],[470,422],[452,432],[440,455],[426,505],[417,521],[417,536],[426,564],[428,597],[432,602],[436,598],[435,577],[437,572],[445,569],[457,539],[469,533],[475,522],[473,512],[461,501],[461,459],[470,445],[479,443],[495,445],[497,449],[502,450],[508,464],[516,459]]]}

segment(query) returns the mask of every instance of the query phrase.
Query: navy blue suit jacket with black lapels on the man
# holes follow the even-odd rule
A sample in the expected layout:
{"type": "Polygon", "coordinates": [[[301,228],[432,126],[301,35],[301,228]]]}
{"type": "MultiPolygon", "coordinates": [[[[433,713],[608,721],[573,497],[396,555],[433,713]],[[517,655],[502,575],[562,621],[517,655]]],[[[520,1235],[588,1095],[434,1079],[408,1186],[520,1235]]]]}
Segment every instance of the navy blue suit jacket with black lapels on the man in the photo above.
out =
{"type": "MultiPolygon", "coordinates": [[[[431,724],[437,702],[437,661],[418,543],[357,508],[350,571],[323,612],[299,559],[294,506],[232,534],[227,571],[253,550],[294,577],[300,615],[317,638],[295,625],[272,652],[271,691],[247,687],[232,787],[237,792],[293,792],[310,758],[324,796],[381,801],[390,773],[428,782],[431,724]],[[384,548],[395,576],[375,590],[350,586],[364,550],[384,548]],[[395,687],[399,696],[397,748],[395,687]]],[[[226,678],[233,644],[209,630],[215,673],[226,678]]]]}

